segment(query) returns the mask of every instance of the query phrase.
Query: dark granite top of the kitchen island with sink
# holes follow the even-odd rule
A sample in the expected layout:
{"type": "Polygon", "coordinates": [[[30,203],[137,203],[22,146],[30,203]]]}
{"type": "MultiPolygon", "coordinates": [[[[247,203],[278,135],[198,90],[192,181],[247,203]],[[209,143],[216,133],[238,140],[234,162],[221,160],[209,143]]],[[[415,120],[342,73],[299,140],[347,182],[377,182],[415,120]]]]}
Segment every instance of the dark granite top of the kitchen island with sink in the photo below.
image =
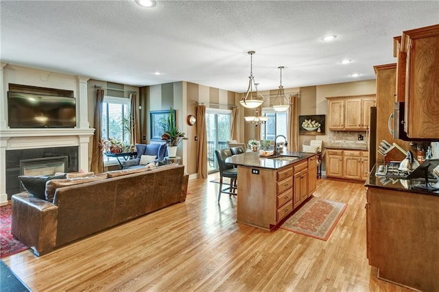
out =
{"type": "Polygon", "coordinates": [[[281,169],[301,160],[308,159],[316,155],[304,152],[285,151],[278,158],[265,158],[259,156],[259,152],[246,152],[226,158],[226,163],[230,165],[241,165],[244,167],[259,167],[263,169],[281,169]]]}

